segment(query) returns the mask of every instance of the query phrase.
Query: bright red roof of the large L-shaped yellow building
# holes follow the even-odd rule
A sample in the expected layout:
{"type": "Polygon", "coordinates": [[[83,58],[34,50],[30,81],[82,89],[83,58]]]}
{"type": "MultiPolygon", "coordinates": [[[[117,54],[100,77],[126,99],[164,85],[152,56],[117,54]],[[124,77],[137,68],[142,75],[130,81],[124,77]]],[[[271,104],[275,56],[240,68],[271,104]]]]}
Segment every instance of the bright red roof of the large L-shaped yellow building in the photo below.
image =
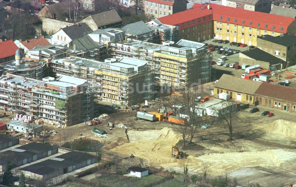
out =
{"type": "Polygon", "coordinates": [[[192,9],[184,12],[178,12],[165,17],[158,18],[160,22],[167,25],[178,25],[179,30],[192,26],[192,21],[197,18],[211,16],[211,19],[203,20],[196,23],[208,22],[209,20],[221,21],[246,27],[253,27],[262,30],[286,33],[289,25],[295,21],[295,18],[283,17],[263,12],[255,12],[243,9],[222,6],[218,4],[210,4],[211,9],[207,9],[207,5],[194,4],[192,9]],[[222,19],[220,17],[222,16],[222,19]],[[190,25],[187,25],[189,21],[190,25]],[[183,27],[182,23],[185,24],[183,27]],[[250,25],[251,23],[251,25],[250,25]],[[259,25],[258,25],[259,23],[259,25]]]}

